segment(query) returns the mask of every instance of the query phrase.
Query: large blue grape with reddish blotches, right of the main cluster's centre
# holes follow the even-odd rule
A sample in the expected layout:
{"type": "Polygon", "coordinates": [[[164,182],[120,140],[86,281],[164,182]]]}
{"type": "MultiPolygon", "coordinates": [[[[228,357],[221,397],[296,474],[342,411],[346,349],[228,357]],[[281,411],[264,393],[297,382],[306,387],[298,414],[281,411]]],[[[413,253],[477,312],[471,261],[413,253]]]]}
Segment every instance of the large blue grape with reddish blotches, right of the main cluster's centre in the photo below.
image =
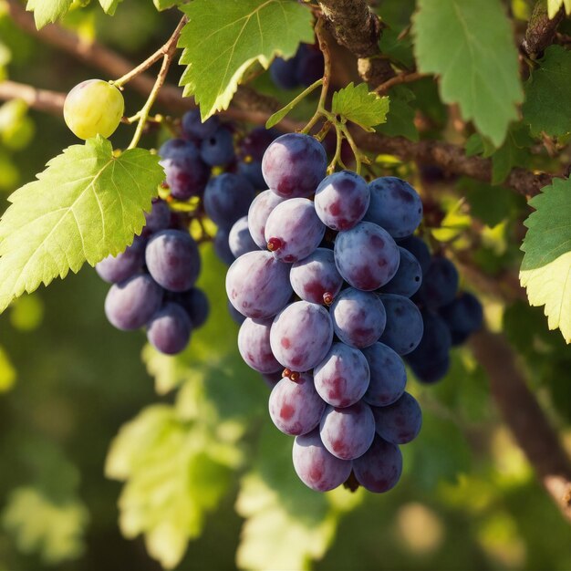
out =
{"type": "Polygon", "coordinates": [[[397,273],[399,248],[377,224],[360,222],[335,240],[335,263],[350,285],[364,291],[379,289],[397,273]]]}

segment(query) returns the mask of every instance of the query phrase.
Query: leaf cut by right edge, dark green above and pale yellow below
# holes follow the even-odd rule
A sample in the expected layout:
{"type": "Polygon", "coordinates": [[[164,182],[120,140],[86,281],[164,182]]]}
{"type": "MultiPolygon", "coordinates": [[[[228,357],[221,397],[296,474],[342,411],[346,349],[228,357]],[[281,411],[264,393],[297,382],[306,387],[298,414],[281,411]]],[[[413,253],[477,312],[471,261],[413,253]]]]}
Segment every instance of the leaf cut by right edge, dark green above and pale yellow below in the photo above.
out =
{"type": "Polygon", "coordinates": [[[554,179],[529,204],[520,281],[531,306],[545,306],[550,329],[571,343],[571,180],[554,179]]]}

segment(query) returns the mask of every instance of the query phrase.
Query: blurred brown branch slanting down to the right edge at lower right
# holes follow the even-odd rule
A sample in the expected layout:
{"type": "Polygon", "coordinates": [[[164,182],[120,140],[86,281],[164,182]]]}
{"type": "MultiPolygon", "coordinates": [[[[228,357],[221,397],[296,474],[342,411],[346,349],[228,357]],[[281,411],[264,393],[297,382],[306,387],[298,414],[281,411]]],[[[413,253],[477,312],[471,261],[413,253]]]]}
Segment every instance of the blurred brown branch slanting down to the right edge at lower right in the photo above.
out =
{"type": "Polygon", "coordinates": [[[569,459],[515,366],[512,349],[504,337],[487,331],[474,335],[470,345],[488,374],[494,400],[515,440],[534,466],[546,492],[571,521],[569,459]]]}

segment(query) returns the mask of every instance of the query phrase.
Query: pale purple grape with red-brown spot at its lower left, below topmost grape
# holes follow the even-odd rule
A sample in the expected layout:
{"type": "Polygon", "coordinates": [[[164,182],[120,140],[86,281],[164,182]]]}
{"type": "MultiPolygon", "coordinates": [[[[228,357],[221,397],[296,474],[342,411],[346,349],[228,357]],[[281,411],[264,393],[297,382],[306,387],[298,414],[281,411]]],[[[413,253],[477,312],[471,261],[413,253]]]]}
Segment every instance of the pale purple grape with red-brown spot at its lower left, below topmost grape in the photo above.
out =
{"type": "Polygon", "coordinates": [[[325,226],[314,203],[292,198],[278,204],[265,223],[267,248],[282,262],[297,262],[315,252],[323,239],[325,226]]]}

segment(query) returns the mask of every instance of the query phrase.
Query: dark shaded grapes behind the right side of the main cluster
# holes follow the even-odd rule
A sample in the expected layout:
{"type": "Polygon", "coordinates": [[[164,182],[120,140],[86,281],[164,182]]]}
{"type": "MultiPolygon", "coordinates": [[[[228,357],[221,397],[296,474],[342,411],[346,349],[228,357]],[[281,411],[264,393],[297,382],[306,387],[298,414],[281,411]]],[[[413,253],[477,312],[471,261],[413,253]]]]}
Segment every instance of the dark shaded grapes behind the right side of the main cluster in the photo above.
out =
{"type": "Polygon", "coordinates": [[[477,297],[458,291],[458,272],[441,254],[431,255],[427,245],[411,236],[401,243],[422,267],[423,281],[413,296],[420,308],[424,335],[406,361],[417,379],[433,383],[450,369],[450,350],[462,345],[482,327],[483,309],[477,297]]]}

